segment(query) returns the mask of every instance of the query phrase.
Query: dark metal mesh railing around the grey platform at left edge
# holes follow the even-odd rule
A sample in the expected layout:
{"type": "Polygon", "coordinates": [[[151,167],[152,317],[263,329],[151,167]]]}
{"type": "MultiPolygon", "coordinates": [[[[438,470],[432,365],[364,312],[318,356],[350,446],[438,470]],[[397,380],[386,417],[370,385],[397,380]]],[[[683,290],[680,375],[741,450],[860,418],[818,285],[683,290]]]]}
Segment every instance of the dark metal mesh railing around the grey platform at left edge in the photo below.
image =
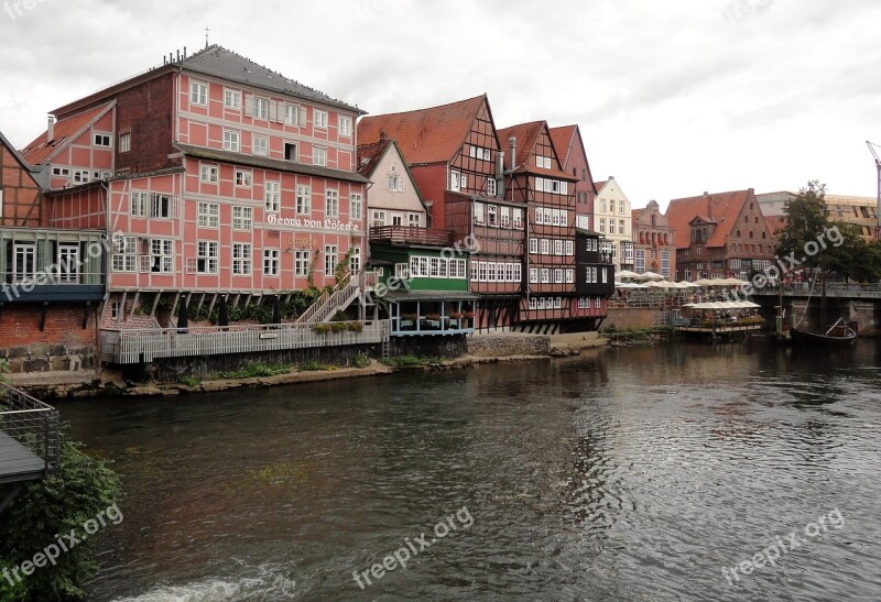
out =
{"type": "Polygon", "coordinates": [[[0,383],[0,482],[46,477],[58,466],[58,412],[0,383]]]}

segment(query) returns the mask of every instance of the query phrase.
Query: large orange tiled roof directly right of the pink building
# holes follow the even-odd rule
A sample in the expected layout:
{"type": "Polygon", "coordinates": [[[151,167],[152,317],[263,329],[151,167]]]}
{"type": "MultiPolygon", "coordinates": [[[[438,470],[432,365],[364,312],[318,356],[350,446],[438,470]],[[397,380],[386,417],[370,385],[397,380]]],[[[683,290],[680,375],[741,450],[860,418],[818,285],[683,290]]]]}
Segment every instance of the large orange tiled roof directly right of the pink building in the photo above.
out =
{"type": "Polygon", "coordinates": [[[403,113],[365,117],[358,122],[358,140],[363,143],[393,138],[407,164],[448,163],[465,144],[487,95],[439,107],[403,113]]]}

